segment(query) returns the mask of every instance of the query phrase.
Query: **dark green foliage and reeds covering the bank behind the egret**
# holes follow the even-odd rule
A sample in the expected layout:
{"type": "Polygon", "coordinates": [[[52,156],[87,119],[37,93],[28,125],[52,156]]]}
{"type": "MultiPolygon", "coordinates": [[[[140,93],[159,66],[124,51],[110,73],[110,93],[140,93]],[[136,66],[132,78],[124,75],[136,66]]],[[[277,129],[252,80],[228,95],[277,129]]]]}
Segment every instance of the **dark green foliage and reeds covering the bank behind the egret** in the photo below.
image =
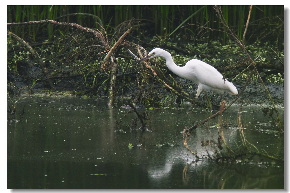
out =
{"type": "MultiPolygon", "coordinates": [[[[242,39],[249,14],[249,5],[222,5],[222,13],[238,39],[242,39]]],[[[141,98],[145,106],[160,106],[164,101],[175,101],[171,91],[157,84],[152,72],[140,65],[128,53],[138,56],[136,45],[147,51],[162,47],[171,52],[177,65],[197,58],[217,68],[232,80],[249,63],[235,43],[211,5],[8,5],[7,23],[54,20],[76,23],[99,31],[109,47],[132,27],[122,46],[114,51],[117,67],[115,95],[133,95],[141,98]],[[137,94],[136,94],[137,93],[137,94]],[[158,104],[157,104],[158,103],[158,104]]],[[[66,25],[38,23],[7,25],[13,32],[36,50],[45,63],[48,78],[43,77],[41,66],[18,41],[7,38],[8,91],[21,92],[48,90],[49,79],[54,90],[69,90],[73,94],[107,97],[110,87],[110,69],[102,71],[102,62],[109,49],[94,34],[66,25]]],[[[254,5],[244,44],[256,60],[262,78],[267,81],[284,81],[284,6],[254,5]]],[[[143,54],[143,53],[142,53],[143,54]]],[[[169,77],[163,60],[158,60],[161,70],[169,77]]],[[[250,69],[249,69],[250,70],[250,69]]],[[[194,84],[171,73],[175,86],[180,85],[188,93],[194,93],[194,84]]],[[[249,77],[245,71],[235,81],[249,77]]],[[[257,76],[251,77],[257,80],[257,76]]],[[[238,83],[235,83],[237,85],[238,83]]],[[[43,93],[43,92],[42,92],[43,93]]]]}

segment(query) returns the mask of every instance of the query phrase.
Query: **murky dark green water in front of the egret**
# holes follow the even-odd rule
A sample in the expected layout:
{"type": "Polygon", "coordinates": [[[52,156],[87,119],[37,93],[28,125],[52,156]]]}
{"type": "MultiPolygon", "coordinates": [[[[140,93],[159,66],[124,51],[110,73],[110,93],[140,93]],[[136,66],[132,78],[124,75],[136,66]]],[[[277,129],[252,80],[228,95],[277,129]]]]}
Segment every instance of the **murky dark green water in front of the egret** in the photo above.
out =
{"type": "MultiPolygon", "coordinates": [[[[128,110],[121,109],[118,116],[119,108],[102,100],[27,97],[17,102],[18,114],[24,105],[24,117],[7,123],[8,189],[284,188],[283,164],[191,164],[194,157],[188,156],[181,131],[209,117],[206,111],[149,111],[153,131],[142,133],[129,131],[133,113],[114,131],[128,110]]],[[[251,108],[243,110],[247,140],[283,157],[284,139],[269,132],[270,119],[261,112],[251,114],[251,108]]],[[[223,116],[229,125],[224,136],[231,146],[240,144],[237,114],[232,106],[223,116]]],[[[193,151],[206,154],[201,140],[217,139],[217,128],[212,127],[217,122],[215,118],[192,131],[188,144],[193,151]]]]}

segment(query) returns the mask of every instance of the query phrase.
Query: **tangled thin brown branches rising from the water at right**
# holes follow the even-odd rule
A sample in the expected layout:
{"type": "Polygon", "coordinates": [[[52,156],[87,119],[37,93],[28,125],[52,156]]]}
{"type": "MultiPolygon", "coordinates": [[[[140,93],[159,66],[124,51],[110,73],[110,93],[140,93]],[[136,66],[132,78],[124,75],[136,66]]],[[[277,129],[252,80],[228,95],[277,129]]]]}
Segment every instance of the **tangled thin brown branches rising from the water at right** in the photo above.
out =
{"type": "MultiPolygon", "coordinates": [[[[253,74],[256,74],[259,78],[259,80],[261,81],[263,87],[264,87],[264,90],[265,92],[268,94],[269,96],[269,99],[271,100],[272,102],[272,111],[271,111],[271,115],[273,115],[273,113],[275,112],[276,113],[276,116],[277,118],[273,118],[273,121],[275,121],[277,124],[277,127],[276,127],[276,131],[278,133],[278,135],[282,134],[283,131],[282,131],[282,128],[281,128],[281,120],[280,120],[280,115],[279,115],[279,112],[276,108],[276,105],[273,101],[273,99],[271,98],[271,95],[268,91],[268,89],[266,88],[266,86],[264,85],[264,82],[263,80],[261,79],[260,77],[260,74],[257,70],[257,68],[255,68],[255,64],[254,64],[254,61],[259,57],[257,57],[255,60],[252,60],[249,53],[247,52],[247,50],[245,49],[245,46],[243,44],[243,42],[239,41],[236,37],[236,35],[233,33],[233,31],[229,28],[229,26],[226,24],[223,16],[222,16],[222,12],[221,12],[221,9],[220,7],[216,6],[216,10],[217,10],[217,13],[218,13],[218,16],[220,17],[222,23],[224,24],[224,26],[229,30],[229,32],[232,34],[233,38],[235,39],[236,43],[241,47],[241,49],[244,51],[244,53],[246,54],[246,56],[248,57],[249,61],[250,61],[250,64],[253,65],[254,67],[254,70],[251,70],[250,72],[250,75],[249,75],[249,78],[247,80],[247,82],[245,83],[244,87],[242,88],[242,90],[239,91],[238,95],[236,96],[236,98],[227,106],[225,107],[225,101],[222,101],[221,103],[221,106],[220,106],[220,110],[215,113],[214,115],[212,115],[211,117],[203,120],[202,122],[192,126],[192,127],[185,127],[184,128],[184,132],[183,132],[183,142],[184,142],[184,145],[185,147],[188,149],[188,151],[190,151],[192,153],[192,155],[195,156],[195,158],[197,160],[199,159],[203,159],[204,157],[206,159],[211,159],[211,160],[215,160],[216,162],[236,162],[237,159],[240,159],[240,160],[244,160],[244,159],[252,159],[253,156],[257,156],[259,157],[260,159],[263,159],[263,158],[267,158],[267,159],[271,159],[271,160],[274,160],[276,162],[284,162],[283,159],[280,159],[278,157],[275,157],[275,156],[272,156],[272,155],[268,155],[267,152],[260,152],[260,150],[258,150],[256,148],[255,145],[253,145],[253,143],[249,142],[247,140],[247,138],[245,137],[244,135],[244,128],[242,126],[242,121],[241,121],[241,115],[240,115],[240,111],[238,112],[238,127],[239,127],[239,133],[240,133],[240,137],[241,137],[241,141],[242,141],[242,144],[237,144],[237,147],[236,149],[232,149],[231,147],[229,147],[226,143],[226,139],[224,138],[224,135],[223,135],[223,127],[222,127],[222,114],[224,113],[224,111],[229,108],[233,102],[235,102],[239,97],[240,95],[244,92],[245,88],[247,87],[247,85],[249,84],[249,82],[251,81],[251,76],[253,74]],[[190,137],[191,135],[191,131],[193,129],[196,129],[198,126],[200,125],[203,125],[204,123],[206,123],[207,121],[211,120],[212,118],[215,118],[219,116],[219,124],[218,124],[218,137],[217,137],[217,142],[215,140],[207,140],[207,141],[202,141],[202,146],[206,147],[206,146],[210,146],[211,149],[213,150],[213,153],[214,155],[210,155],[209,151],[206,150],[207,152],[207,155],[197,155],[197,152],[193,152],[189,145],[188,145],[188,138],[190,137]],[[218,149],[220,150],[219,152],[218,151],[215,151],[213,149],[213,145],[217,146],[218,149]],[[222,146],[225,146],[226,147],[226,152],[225,151],[222,151],[223,147],[222,146]],[[250,146],[253,148],[251,149],[250,146]]],[[[242,106],[242,105],[241,105],[242,106]]],[[[264,115],[267,114],[268,112],[268,109],[265,110],[264,109],[264,115]]]]}

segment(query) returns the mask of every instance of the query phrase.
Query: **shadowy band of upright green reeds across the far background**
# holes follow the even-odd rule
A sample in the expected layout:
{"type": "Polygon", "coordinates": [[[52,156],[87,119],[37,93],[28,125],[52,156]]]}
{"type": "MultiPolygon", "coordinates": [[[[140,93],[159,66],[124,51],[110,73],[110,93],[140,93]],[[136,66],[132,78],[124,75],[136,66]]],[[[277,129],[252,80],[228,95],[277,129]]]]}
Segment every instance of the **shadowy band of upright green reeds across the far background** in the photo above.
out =
{"type": "MultiPolygon", "coordinates": [[[[224,17],[237,36],[242,39],[246,21],[249,13],[249,5],[222,5],[224,17]]],[[[251,10],[251,18],[247,30],[246,40],[248,42],[276,41],[282,44],[283,31],[279,28],[284,18],[283,5],[254,5],[251,10]]],[[[221,29],[219,18],[211,5],[8,5],[7,22],[26,22],[44,19],[52,19],[59,22],[77,23],[92,29],[101,29],[101,25],[108,34],[113,34],[115,28],[131,19],[142,19],[138,35],[160,36],[182,33],[187,36],[197,35],[195,25],[211,29],[221,29]],[[186,20],[186,22],[184,22],[186,20]],[[184,23],[183,23],[184,22],[184,23]],[[185,28],[178,28],[180,24],[185,28]],[[193,24],[193,25],[188,25],[193,24]],[[175,31],[175,29],[177,29],[175,31]]],[[[52,38],[53,26],[48,26],[49,38],[52,38]]],[[[203,32],[206,32],[203,31],[203,32]]],[[[17,29],[16,34],[24,31],[17,29]]],[[[31,33],[28,31],[28,33],[31,33]]],[[[35,29],[33,35],[47,33],[44,26],[35,29]]],[[[187,37],[186,36],[186,37],[187,37]]],[[[211,39],[222,38],[226,42],[227,35],[221,31],[207,33],[211,39]]]]}

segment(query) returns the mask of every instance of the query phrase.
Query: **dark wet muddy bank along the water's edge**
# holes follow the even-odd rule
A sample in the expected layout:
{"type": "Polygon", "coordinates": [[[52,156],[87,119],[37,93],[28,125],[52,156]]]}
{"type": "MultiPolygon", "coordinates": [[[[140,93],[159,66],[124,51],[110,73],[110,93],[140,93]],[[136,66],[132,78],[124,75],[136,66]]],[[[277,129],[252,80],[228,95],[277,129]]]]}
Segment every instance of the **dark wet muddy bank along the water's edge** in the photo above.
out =
{"type": "MultiPolygon", "coordinates": [[[[131,77],[131,81],[134,84],[134,78],[136,79],[136,75],[128,73],[125,75],[127,78],[131,77]]],[[[7,89],[10,92],[10,95],[21,96],[21,95],[39,95],[39,96],[52,96],[52,97],[63,97],[63,96],[77,96],[77,97],[87,97],[92,99],[106,99],[108,98],[108,83],[104,83],[102,86],[95,86],[92,88],[91,86],[87,86],[85,83],[84,76],[81,74],[64,74],[59,77],[52,77],[51,80],[54,84],[53,88],[50,88],[46,79],[37,79],[37,77],[41,77],[41,69],[39,66],[34,65],[32,68],[24,68],[19,64],[18,72],[12,73],[7,72],[7,81],[8,86],[7,89]],[[35,79],[33,79],[33,77],[35,79]],[[13,83],[12,83],[13,82],[13,83]],[[13,93],[13,94],[12,94],[13,93]]],[[[121,76],[117,76],[122,78],[121,76]]],[[[179,80],[176,78],[176,80],[179,80]]],[[[87,80],[89,81],[89,80],[87,80]]],[[[151,84],[151,77],[149,77],[149,84],[151,84]]],[[[153,82],[152,82],[153,83],[153,82]]],[[[278,107],[284,107],[284,84],[278,83],[270,83],[264,82],[266,87],[268,88],[272,99],[275,102],[275,105],[278,107]]],[[[234,83],[238,91],[240,91],[243,87],[242,83],[234,83]]],[[[180,85],[183,87],[189,87],[192,85],[191,92],[195,96],[197,85],[192,83],[191,81],[182,80],[180,85]]],[[[122,84],[117,85],[116,89],[122,88],[122,84]]],[[[168,94],[168,90],[162,88],[162,85],[155,83],[155,92],[158,92],[159,95],[168,94]]],[[[115,99],[118,100],[120,98],[130,98],[136,97],[136,93],[139,93],[139,87],[137,82],[135,82],[134,86],[130,88],[123,88],[122,92],[117,92],[115,99]]],[[[146,91],[145,91],[146,92],[146,91]]],[[[209,94],[210,96],[211,93],[209,94]]],[[[194,98],[194,96],[191,96],[194,98]]],[[[200,96],[198,101],[200,104],[205,105],[205,100],[200,96]]],[[[177,98],[177,96],[175,96],[177,98]]],[[[224,94],[224,98],[233,100],[235,96],[229,95],[227,93],[224,94]]],[[[220,94],[214,94],[212,96],[213,103],[220,100],[220,94]]],[[[238,102],[236,103],[244,103],[249,105],[271,105],[271,101],[269,100],[268,95],[264,91],[264,88],[259,82],[252,81],[244,91],[244,94],[240,96],[238,102]]],[[[141,104],[142,105],[142,104],[141,104]]],[[[164,103],[166,106],[166,104],[164,103]]],[[[169,105],[170,106],[170,105],[169,105]]]]}

